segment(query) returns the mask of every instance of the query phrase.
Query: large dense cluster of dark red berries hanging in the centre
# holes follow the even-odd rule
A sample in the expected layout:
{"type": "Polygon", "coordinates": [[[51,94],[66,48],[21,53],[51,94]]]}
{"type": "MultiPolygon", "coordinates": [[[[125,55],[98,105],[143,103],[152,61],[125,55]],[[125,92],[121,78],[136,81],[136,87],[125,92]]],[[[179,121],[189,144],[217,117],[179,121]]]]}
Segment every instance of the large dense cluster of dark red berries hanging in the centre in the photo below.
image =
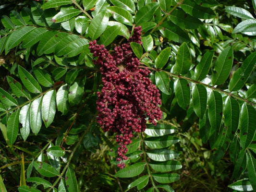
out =
{"type": "Polygon", "coordinates": [[[119,168],[124,168],[123,160],[127,160],[127,145],[132,143],[134,132],[143,132],[148,122],[156,125],[162,118],[160,94],[156,85],[146,77],[150,71],[140,69],[139,60],[130,46],[131,42],[142,44],[141,27],[134,28],[134,34],[128,43],[114,48],[110,54],[104,45],[96,40],[89,43],[94,57],[94,64],[100,66],[102,74],[102,90],[98,92],[97,110],[98,123],[104,132],[117,132],[116,142],[119,143],[117,161],[119,168]]]}

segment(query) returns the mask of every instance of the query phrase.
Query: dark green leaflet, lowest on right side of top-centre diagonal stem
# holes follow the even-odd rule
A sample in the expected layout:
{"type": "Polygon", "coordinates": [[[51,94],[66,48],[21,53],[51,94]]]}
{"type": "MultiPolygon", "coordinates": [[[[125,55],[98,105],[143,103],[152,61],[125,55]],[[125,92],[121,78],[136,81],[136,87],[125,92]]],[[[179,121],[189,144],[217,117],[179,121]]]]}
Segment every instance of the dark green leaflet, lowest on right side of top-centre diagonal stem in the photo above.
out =
{"type": "Polygon", "coordinates": [[[190,38],[178,25],[173,24],[171,22],[163,22],[160,25],[160,33],[167,37],[168,39],[183,43],[183,42],[189,42],[190,38]]]}

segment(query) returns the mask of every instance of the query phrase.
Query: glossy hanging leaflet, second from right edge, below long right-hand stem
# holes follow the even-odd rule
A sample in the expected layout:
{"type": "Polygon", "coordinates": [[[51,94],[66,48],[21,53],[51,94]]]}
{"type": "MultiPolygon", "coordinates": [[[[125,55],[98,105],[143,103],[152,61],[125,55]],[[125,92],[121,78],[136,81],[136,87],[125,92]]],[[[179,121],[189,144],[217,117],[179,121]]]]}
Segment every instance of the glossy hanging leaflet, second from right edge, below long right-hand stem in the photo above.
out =
{"type": "Polygon", "coordinates": [[[237,131],[240,118],[240,107],[237,100],[227,97],[224,105],[224,123],[227,130],[227,136],[233,139],[237,131]]]}

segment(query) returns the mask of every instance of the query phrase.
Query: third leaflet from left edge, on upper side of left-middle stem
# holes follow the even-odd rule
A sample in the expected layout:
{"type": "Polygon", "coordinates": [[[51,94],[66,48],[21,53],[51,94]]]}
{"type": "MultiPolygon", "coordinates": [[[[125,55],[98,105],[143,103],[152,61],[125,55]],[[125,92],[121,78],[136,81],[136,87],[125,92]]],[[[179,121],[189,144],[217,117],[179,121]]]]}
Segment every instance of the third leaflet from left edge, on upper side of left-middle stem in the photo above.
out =
{"type": "Polygon", "coordinates": [[[18,65],[18,73],[22,83],[28,91],[32,93],[42,93],[42,88],[38,84],[37,80],[27,72],[22,66],[18,65]]]}

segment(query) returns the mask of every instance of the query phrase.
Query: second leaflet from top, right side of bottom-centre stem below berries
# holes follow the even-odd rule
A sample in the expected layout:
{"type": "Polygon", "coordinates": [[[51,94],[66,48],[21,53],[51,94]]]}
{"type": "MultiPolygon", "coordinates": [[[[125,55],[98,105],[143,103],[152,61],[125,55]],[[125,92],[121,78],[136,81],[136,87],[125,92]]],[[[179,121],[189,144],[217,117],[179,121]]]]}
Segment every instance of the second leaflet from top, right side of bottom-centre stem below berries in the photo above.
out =
{"type": "Polygon", "coordinates": [[[161,137],[148,137],[144,140],[145,144],[152,149],[161,149],[171,146],[180,141],[179,138],[170,135],[164,135],[161,137]]]}

